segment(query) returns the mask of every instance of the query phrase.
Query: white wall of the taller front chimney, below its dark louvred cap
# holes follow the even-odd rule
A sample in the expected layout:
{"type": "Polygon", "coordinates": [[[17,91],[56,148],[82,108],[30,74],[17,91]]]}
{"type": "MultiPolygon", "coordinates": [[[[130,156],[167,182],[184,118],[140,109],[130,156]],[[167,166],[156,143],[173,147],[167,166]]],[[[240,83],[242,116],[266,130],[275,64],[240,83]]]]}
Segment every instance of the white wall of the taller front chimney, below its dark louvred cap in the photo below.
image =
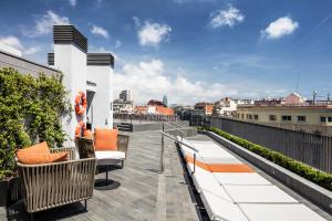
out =
{"type": "MultiPolygon", "coordinates": [[[[79,91],[86,93],[86,53],[73,44],[54,44],[54,69],[63,73],[63,84],[69,91],[70,102],[74,109],[75,97],[79,91]]],[[[74,136],[77,122],[85,115],[77,117],[73,110],[72,116],[63,119],[63,129],[68,134],[64,146],[74,146],[74,136]]]]}

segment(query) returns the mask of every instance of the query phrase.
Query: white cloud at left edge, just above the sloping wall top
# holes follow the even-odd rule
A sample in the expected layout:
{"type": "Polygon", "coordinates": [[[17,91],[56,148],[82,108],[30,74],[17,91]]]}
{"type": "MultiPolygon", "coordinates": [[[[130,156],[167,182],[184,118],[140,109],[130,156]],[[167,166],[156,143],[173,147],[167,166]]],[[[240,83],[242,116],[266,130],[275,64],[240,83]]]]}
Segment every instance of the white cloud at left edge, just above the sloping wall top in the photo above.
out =
{"type": "Polygon", "coordinates": [[[31,46],[25,49],[17,36],[9,35],[0,38],[0,50],[21,56],[22,54],[35,54],[40,51],[40,48],[31,46]]]}

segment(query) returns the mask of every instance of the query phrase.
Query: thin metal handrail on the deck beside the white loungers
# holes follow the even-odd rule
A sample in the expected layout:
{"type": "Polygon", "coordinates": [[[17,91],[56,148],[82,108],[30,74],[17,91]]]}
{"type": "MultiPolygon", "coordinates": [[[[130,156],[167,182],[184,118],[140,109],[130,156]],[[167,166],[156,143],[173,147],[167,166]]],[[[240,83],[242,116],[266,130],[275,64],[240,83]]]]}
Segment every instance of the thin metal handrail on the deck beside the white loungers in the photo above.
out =
{"type": "MultiPolygon", "coordinates": [[[[177,127],[175,127],[175,126],[172,126],[172,125],[169,125],[169,124],[167,124],[167,123],[165,123],[165,124],[168,125],[168,126],[170,126],[172,128],[178,130],[178,131],[181,131],[181,134],[185,133],[184,130],[181,130],[181,129],[179,129],[179,128],[177,128],[177,127]]],[[[165,124],[163,124],[163,131],[160,131],[160,134],[162,134],[162,152],[160,152],[160,161],[159,161],[160,172],[164,172],[164,170],[165,170],[165,169],[164,169],[164,152],[165,152],[165,137],[167,137],[167,138],[169,138],[169,139],[173,139],[175,143],[180,144],[180,145],[184,145],[184,146],[188,147],[189,149],[194,150],[194,171],[193,171],[193,173],[194,173],[195,170],[196,170],[196,152],[198,152],[198,150],[197,150],[195,147],[191,147],[190,145],[185,144],[185,143],[183,141],[183,139],[184,139],[184,138],[183,138],[183,135],[180,136],[180,137],[181,137],[181,140],[178,140],[178,139],[175,137],[176,134],[170,135],[170,134],[165,133],[165,124]]]]}

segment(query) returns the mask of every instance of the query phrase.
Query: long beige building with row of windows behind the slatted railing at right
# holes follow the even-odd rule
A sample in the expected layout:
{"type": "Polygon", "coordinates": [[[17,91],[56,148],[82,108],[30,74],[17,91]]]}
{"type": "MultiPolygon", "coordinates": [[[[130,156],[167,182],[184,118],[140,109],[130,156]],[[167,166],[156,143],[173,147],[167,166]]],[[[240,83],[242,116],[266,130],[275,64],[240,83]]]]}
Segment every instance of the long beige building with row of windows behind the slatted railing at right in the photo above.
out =
{"type": "Polygon", "coordinates": [[[242,105],[239,120],[332,136],[332,105],[242,105]]]}

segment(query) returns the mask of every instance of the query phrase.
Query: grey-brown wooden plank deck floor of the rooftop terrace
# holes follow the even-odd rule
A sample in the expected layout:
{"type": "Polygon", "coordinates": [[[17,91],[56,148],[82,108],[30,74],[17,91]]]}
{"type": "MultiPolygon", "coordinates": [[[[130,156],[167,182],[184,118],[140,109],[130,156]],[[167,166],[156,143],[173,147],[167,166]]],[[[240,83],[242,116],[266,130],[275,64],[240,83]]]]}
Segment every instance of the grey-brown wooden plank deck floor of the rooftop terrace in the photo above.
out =
{"type": "MultiPolygon", "coordinates": [[[[198,220],[174,143],[166,140],[165,172],[160,175],[158,131],[132,133],[128,158],[123,169],[110,172],[120,183],[113,190],[94,190],[89,212],[73,203],[38,212],[34,220],[198,220]]],[[[98,173],[96,179],[104,178],[98,173]]],[[[0,208],[0,220],[29,220],[22,203],[0,208]]]]}

